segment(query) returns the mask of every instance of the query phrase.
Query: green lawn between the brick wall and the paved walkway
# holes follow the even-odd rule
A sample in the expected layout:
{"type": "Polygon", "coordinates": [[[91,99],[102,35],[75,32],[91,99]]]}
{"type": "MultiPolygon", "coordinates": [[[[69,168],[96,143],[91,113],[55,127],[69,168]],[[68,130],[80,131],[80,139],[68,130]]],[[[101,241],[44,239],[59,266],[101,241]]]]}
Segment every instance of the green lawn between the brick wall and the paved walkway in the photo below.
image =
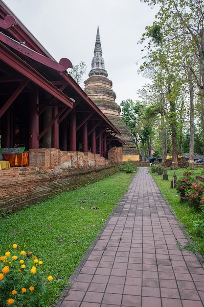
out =
{"type": "Polygon", "coordinates": [[[46,307],[57,303],[134,176],[119,172],[0,220],[0,256],[18,244],[43,261],[45,276],[53,276],[46,285],[46,307]]]}

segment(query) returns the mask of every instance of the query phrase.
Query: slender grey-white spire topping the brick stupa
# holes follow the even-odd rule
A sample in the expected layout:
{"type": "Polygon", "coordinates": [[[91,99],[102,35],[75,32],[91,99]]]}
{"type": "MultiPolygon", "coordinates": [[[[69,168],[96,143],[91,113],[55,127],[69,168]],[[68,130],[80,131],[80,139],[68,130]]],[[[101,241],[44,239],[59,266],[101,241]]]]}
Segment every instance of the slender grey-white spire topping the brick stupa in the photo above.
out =
{"type": "Polygon", "coordinates": [[[89,73],[89,77],[91,76],[105,76],[108,77],[107,71],[104,68],[104,59],[102,57],[102,48],[99,34],[99,26],[97,28],[96,33],[96,41],[94,48],[94,56],[91,62],[91,71],[89,73]]]}

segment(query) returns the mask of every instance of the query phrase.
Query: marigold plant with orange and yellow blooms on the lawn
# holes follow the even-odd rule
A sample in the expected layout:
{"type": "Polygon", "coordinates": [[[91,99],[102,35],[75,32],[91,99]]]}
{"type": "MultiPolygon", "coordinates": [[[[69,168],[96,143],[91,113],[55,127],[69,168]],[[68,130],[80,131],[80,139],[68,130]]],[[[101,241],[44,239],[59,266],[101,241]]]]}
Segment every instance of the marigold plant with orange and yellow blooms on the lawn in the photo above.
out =
{"type": "Polygon", "coordinates": [[[44,307],[45,285],[53,278],[43,276],[43,261],[15,243],[9,249],[0,256],[0,307],[44,307]]]}

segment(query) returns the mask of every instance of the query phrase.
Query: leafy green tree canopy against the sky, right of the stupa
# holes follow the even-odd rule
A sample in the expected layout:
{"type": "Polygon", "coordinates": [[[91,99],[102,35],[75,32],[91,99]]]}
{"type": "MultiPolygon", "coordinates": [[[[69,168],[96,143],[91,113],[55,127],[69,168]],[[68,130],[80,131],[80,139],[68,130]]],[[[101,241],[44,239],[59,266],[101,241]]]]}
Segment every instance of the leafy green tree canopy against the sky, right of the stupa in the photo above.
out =
{"type": "Polygon", "coordinates": [[[204,130],[202,98],[204,2],[201,0],[143,0],[143,2],[158,5],[159,12],[156,15],[157,22],[146,27],[146,32],[140,41],[142,43],[147,41],[143,49],[147,54],[143,57],[144,62],[140,66],[140,72],[153,80],[155,101],[157,105],[162,103],[161,120],[166,128],[171,129],[169,132],[172,138],[171,151],[176,165],[176,157],[178,153],[182,153],[183,130],[188,128],[188,125],[190,160],[193,157],[195,102],[200,105],[198,116],[202,119],[204,130]],[[186,89],[189,91],[189,96],[186,89]]]}

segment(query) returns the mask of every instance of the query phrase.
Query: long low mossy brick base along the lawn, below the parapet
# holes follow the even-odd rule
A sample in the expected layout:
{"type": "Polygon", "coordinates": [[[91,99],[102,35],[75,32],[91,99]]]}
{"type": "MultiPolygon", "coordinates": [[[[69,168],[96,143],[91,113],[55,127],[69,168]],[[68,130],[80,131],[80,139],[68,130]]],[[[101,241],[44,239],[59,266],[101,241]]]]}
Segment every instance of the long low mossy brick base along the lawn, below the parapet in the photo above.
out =
{"type": "MultiPolygon", "coordinates": [[[[36,160],[45,156],[55,164],[52,157],[43,152],[36,160]]],[[[25,205],[33,205],[50,196],[101,180],[117,171],[115,163],[81,168],[56,167],[52,170],[39,167],[4,169],[0,171],[0,214],[18,211],[25,205]]]]}

